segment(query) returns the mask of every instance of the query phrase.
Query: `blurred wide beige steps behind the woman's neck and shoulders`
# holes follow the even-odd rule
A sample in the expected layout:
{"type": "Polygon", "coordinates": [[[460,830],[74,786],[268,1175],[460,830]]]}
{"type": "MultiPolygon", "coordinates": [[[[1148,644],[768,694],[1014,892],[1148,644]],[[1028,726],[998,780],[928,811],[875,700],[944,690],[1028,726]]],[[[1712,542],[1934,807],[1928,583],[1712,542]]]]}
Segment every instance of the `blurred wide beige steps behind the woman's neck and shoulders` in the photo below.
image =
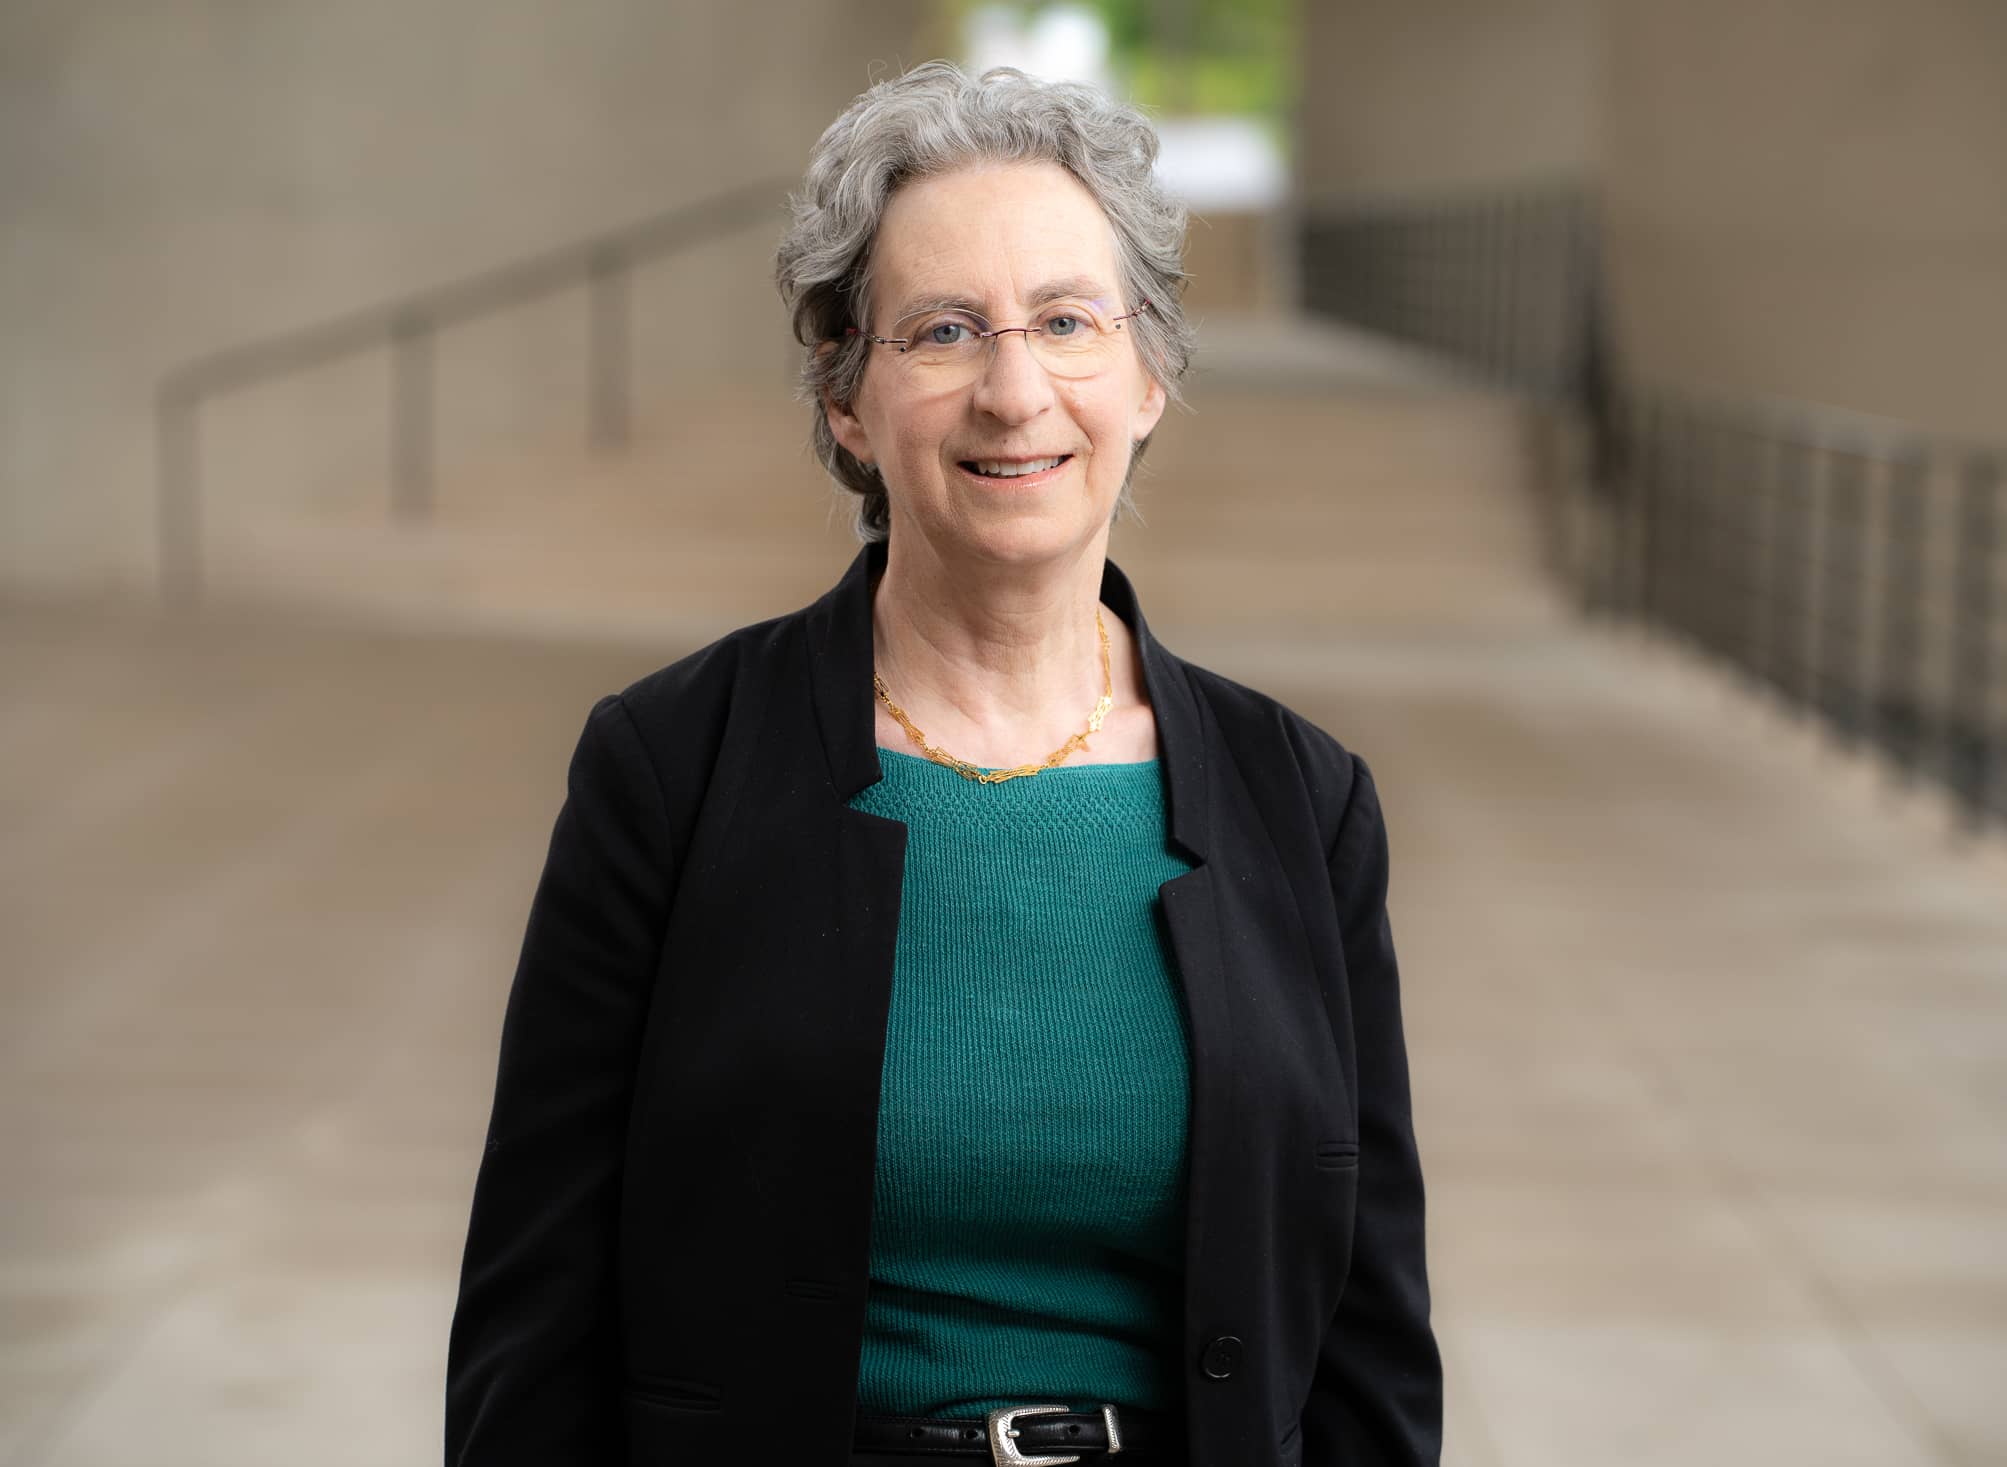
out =
{"type": "MultiPolygon", "coordinates": [[[[1561,616],[1525,409],[1307,323],[1204,323],[1202,363],[1138,478],[1144,522],[1112,542],[1158,624],[1317,638],[1561,616]]],[[[425,526],[373,490],[239,508],[209,578],[223,604],[690,642],[813,600],[853,554],[805,411],[719,387],[618,458],[558,444],[462,472],[425,526]]]]}

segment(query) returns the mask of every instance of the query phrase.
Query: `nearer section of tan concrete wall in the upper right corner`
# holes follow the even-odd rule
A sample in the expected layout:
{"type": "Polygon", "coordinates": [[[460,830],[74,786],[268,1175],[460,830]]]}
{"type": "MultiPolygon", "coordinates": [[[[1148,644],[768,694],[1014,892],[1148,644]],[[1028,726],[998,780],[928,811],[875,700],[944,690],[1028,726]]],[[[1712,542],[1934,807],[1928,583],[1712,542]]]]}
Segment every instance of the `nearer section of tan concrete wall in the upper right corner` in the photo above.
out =
{"type": "Polygon", "coordinates": [[[2007,4],[1612,0],[1604,54],[1634,371],[2007,439],[2007,4]]]}

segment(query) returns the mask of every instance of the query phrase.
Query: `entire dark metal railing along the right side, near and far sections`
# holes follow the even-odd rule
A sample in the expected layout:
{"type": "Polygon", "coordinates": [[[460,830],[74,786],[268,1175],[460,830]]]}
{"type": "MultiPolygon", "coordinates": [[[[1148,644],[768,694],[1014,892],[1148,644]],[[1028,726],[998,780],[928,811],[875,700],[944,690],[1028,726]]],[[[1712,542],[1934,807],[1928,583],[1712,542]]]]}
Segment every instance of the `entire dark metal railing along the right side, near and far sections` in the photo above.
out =
{"type": "Polygon", "coordinates": [[[1561,554],[1844,743],[2007,819],[2007,448],[1626,381],[1594,197],[1537,185],[1305,225],[1305,305],[1433,349],[1588,439],[1561,554]]]}

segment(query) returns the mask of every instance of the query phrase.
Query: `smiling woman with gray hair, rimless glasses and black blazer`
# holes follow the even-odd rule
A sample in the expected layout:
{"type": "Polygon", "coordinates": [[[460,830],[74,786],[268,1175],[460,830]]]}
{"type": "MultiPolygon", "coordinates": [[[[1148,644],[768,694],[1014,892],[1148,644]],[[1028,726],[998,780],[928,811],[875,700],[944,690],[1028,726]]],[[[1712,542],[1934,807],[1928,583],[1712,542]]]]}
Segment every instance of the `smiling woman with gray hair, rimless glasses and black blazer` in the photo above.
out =
{"type": "Polygon", "coordinates": [[[779,283],[867,544],[586,720],[448,1461],[1437,1459],[1373,781],[1106,562],[1188,349],[1154,153],[943,62],[817,144],[779,283]]]}

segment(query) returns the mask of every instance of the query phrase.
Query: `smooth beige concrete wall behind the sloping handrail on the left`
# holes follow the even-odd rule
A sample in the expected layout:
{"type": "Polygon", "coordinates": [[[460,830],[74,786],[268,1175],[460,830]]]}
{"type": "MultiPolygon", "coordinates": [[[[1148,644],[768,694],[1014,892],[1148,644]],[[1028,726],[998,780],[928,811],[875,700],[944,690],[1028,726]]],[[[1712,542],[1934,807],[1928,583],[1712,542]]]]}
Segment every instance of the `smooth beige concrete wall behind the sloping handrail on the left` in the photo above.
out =
{"type": "MultiPolygon", "coordinates": [[[[149,413],[177,361],[716,189],[799,177],[849,96],[919,60],[921,10],[0,8],[0,590],[153,586],[149,413]]],[[[783,321],[765,283],[777,225],[779,213],[773,229],[638,283],[668,327],[686,327],[652,329],[644,353],[674,359],[682,341],[735,339],[735,323],[751,323],[739,347],[706,351],[737,351],[781,383],[783,321]],[[767,331],[771,347],[743,345],[767,331]]],[[[484,331],[464,347],[442,341],[442,367],[454,367],[442,417],[576,417],[580,301],[484,331]],[[462,361],[446,363],[450,351],[462,361]]],[[[319,395],[275,389],[285,401],[265,403],[265,442],[251,472],[237,466],[237,490],[293,492],[277,482],[285,472],[377,474],[383,375],[381,361],[351,363],[319,395]]],[[[231,413],[251,415],[245,403],[231,413]]],[[[231,452],[219,442],[213,458],[231,452]]]]}

